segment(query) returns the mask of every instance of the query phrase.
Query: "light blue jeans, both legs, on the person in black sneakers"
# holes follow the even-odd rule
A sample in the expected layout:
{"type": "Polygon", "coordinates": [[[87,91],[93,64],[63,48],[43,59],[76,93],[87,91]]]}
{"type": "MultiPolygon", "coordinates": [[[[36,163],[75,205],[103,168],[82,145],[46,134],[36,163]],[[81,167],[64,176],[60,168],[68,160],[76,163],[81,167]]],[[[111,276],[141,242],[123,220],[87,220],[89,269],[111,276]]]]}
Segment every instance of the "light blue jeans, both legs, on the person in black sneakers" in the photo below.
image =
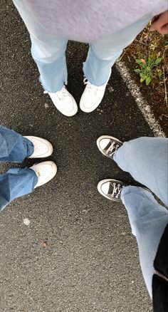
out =
{"type": "MultiPolygon", "coordinates": [[[[168,139],[140,137],[125,142],[114,155],[119,167],[149,188],[168,204],[168,139]]],[[[130,219],[132,234],[137,238],[142,274],[152,297],[154,258],[168,222],[167,209],[142,187],[122,189],[122,202],[130,219]]],[[[138,283],[138,281],[137,281],[138,283]]]]}

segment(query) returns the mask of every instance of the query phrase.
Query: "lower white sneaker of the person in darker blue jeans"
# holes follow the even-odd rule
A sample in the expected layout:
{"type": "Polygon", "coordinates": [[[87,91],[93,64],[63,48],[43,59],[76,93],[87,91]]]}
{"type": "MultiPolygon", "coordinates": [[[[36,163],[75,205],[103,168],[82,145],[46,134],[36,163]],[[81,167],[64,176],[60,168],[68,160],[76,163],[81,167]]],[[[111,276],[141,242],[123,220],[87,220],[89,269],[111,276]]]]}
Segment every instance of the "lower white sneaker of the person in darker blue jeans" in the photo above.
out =
{"type": "Polygon", "coordinates": [[[30,169],[33,170],[38,177],[38,182],[34,188],[41,187],[41,185],[46,184],[48,181],[53,179],[53,177],[55,177],[57,172],[56,164],[51,161],[40,162],[39,164],[30,167],[30,169]]]}

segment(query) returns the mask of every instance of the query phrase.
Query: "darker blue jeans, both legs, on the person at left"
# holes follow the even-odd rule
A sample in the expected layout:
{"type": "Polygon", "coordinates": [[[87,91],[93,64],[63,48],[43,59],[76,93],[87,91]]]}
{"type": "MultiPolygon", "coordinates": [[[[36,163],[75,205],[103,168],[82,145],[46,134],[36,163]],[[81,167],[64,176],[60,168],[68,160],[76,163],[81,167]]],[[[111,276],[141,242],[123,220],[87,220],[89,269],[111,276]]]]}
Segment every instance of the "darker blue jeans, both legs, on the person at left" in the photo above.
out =
{"type": "MultiPolygon", "coordinates": [[[[31,141],[0,126],[0,162],[23,162],[32,153],[31,141]]],[[[0,175],[0,211],[13,199],[31,193],[37,182],[36,173],[29,168],[11,168],[0,175]]]]}

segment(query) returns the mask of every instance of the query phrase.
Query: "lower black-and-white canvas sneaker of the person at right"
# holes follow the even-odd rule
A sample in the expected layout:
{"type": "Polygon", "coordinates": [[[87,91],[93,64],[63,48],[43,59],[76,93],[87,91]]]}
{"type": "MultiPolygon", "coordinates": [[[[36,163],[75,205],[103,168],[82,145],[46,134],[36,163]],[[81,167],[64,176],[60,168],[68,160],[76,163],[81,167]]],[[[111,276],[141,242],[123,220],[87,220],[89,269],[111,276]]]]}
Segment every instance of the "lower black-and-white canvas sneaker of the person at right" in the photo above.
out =
{"type": "Polygon", "coordinates": [[[98,192],[114,202],[121,202],[123,187],[127,187],[127,184],[114,179],[105,179],[98,182],[98,192]]]}

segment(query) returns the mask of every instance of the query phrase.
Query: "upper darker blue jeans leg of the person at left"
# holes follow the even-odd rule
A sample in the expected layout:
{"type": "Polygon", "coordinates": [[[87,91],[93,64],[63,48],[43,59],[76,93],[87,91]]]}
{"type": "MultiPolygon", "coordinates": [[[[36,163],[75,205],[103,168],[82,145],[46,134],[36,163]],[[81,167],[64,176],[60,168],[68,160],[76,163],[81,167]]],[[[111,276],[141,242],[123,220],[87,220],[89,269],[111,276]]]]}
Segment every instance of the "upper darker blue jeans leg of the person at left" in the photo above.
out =
{"type": "Polygon", "coordinates": [[[33,151],[30,140],[0,125],[0,162],[23,162],[33,151]]]}

